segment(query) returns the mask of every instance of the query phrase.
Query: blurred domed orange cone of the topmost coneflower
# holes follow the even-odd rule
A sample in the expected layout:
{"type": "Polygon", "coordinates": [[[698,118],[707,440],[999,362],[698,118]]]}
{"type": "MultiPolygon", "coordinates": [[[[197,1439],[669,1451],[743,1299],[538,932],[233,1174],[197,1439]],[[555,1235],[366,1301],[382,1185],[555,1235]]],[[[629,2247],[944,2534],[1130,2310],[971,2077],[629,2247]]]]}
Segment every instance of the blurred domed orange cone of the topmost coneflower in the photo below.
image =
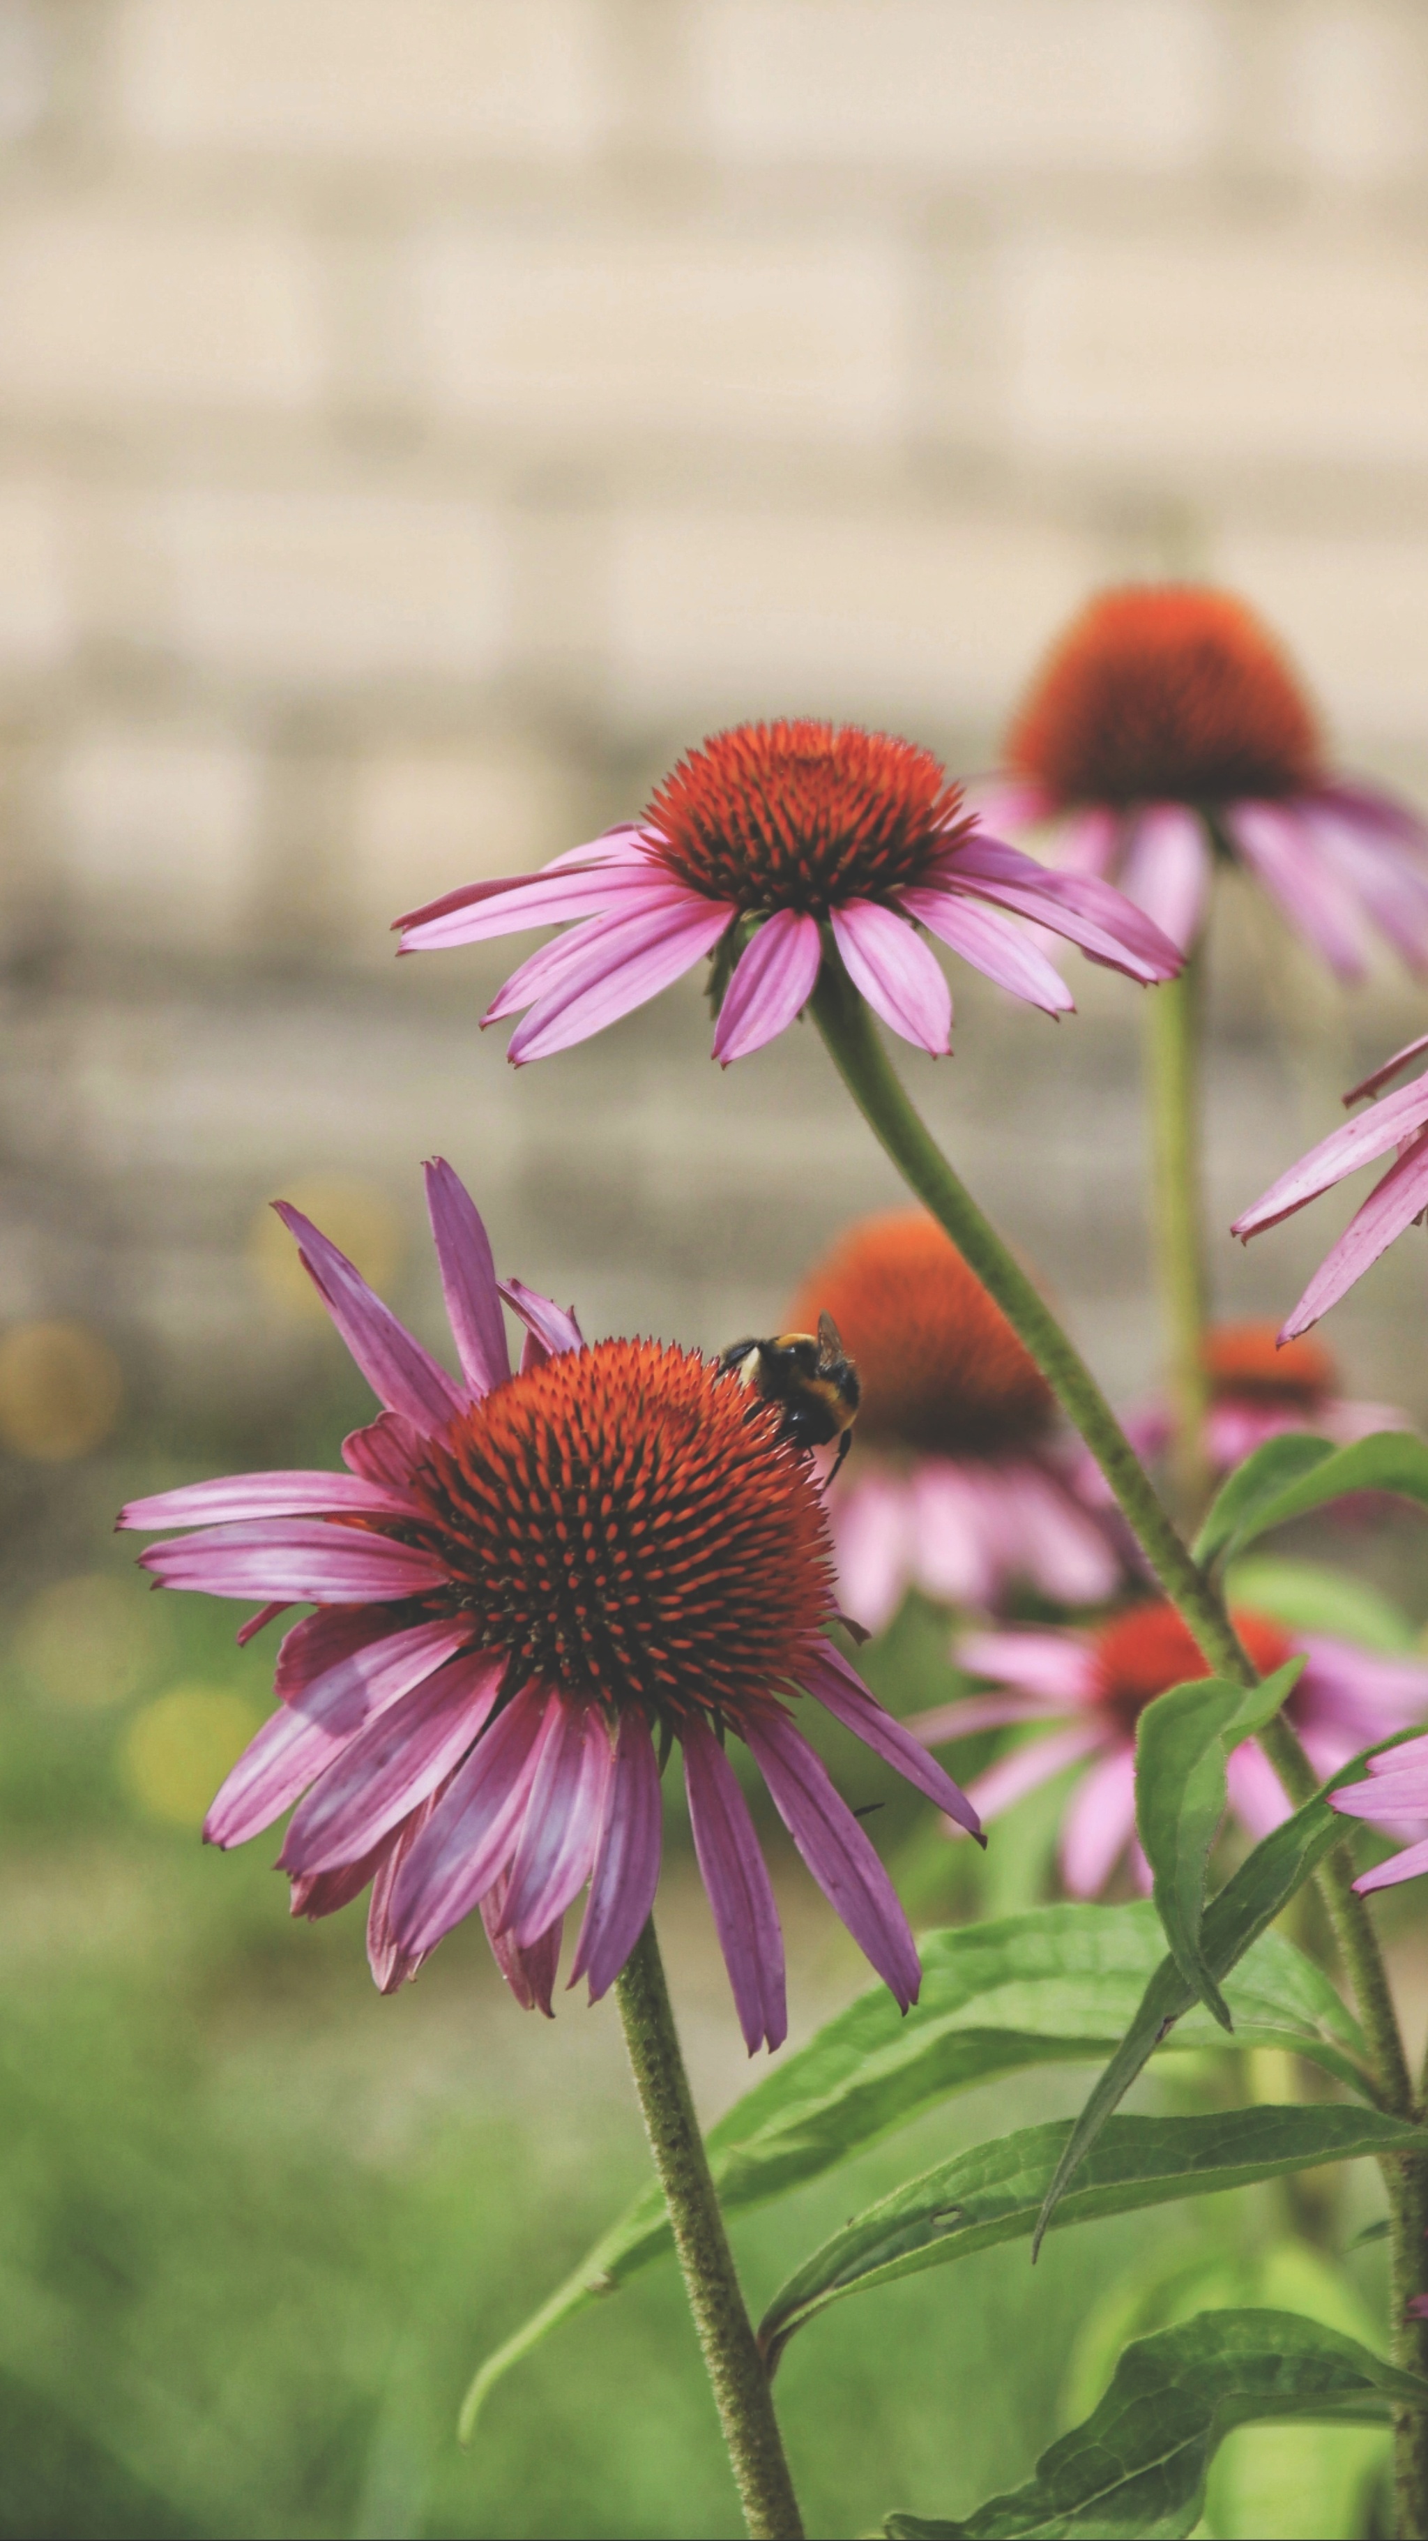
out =
{"type": "Polygon", "coordinates": [[[1227,592],[1103,592],[1009,739],[1057,803],[1232,803],[1316,783],[1319,732],[1273,635],[1227,592]]]}

